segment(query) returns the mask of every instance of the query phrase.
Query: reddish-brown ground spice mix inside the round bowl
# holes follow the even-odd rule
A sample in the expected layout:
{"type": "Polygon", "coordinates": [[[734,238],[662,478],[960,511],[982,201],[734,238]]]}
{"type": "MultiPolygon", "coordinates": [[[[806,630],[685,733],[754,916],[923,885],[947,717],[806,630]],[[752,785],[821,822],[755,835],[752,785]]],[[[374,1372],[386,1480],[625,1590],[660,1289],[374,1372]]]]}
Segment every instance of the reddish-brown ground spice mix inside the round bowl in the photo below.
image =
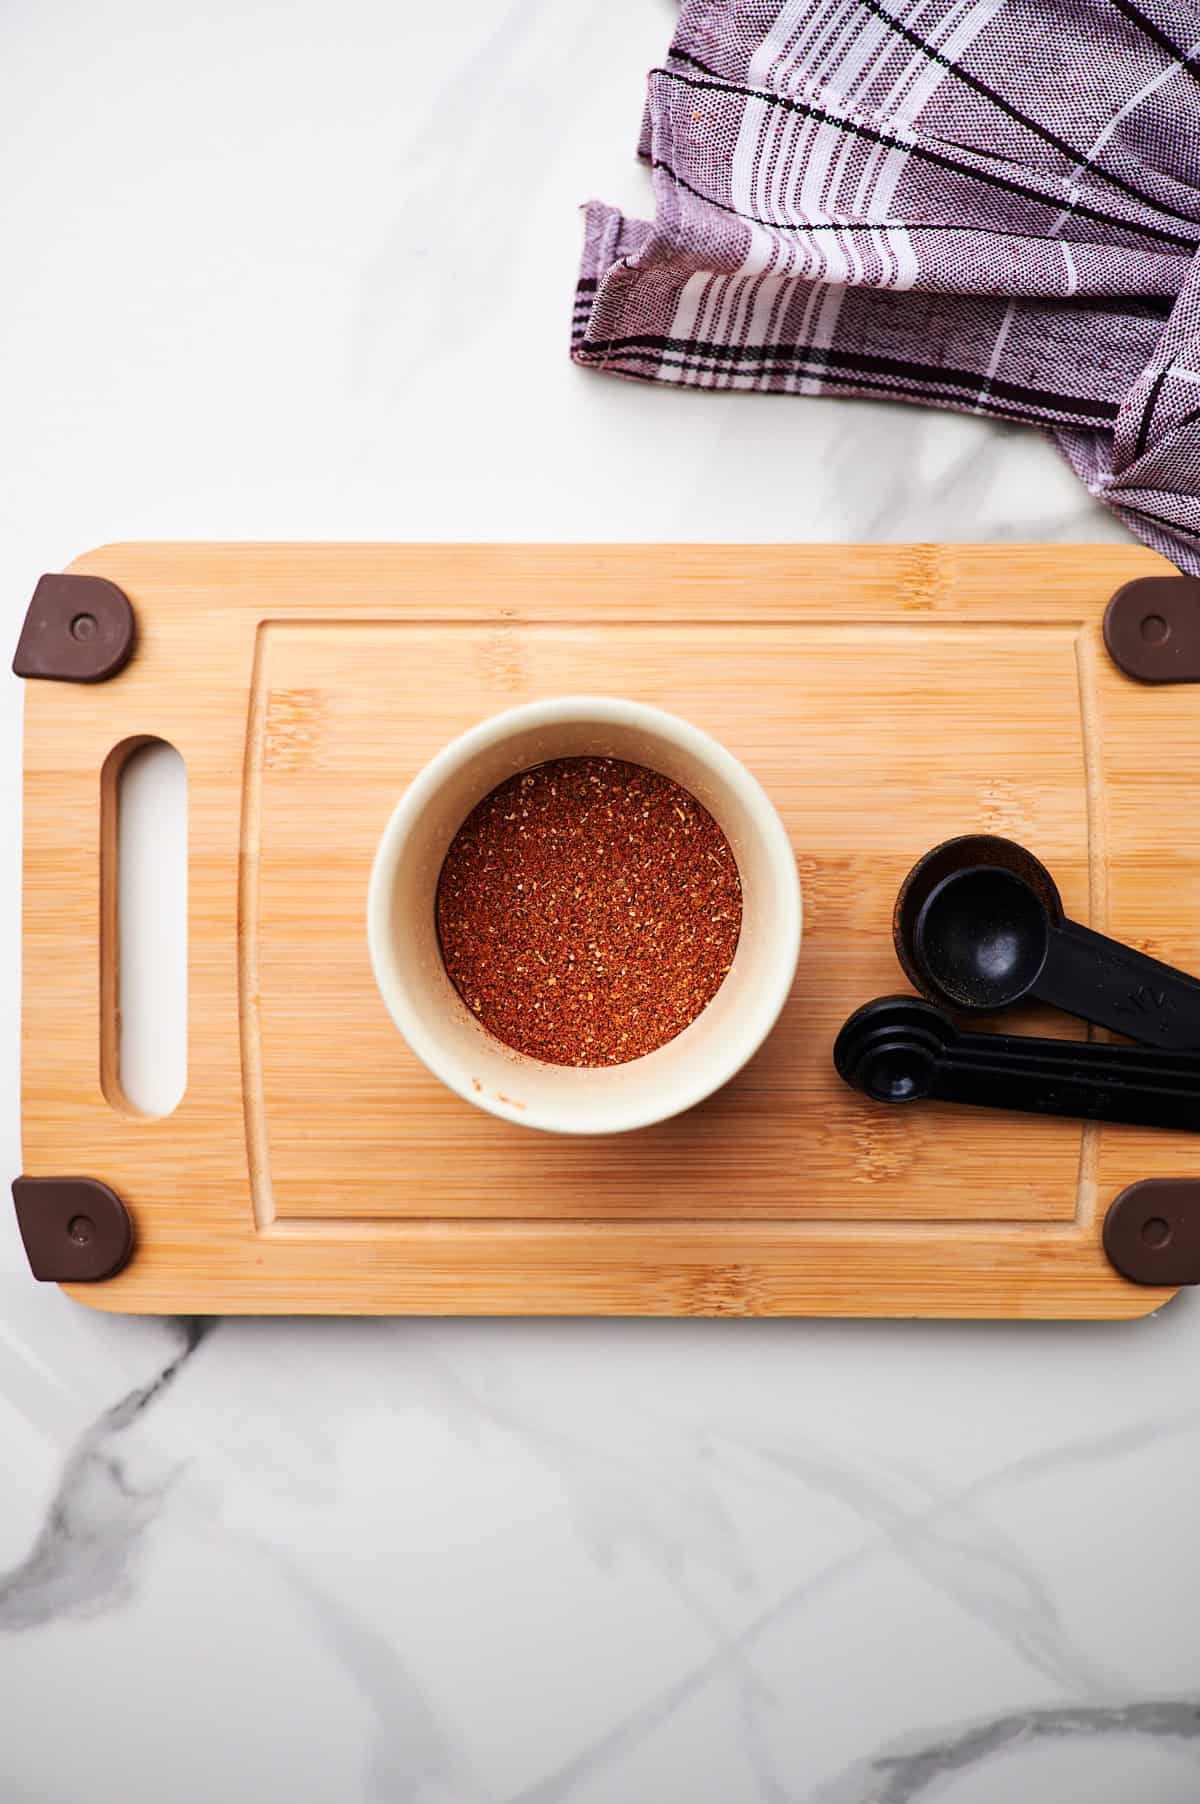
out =
{"type": "Polygon", "coordinates": [[[678,783],[619,758],[556,758],[462,823],[437,931],[451,983],[496,1039],[549,1064],[624,1064],[713,1001],[742,880],[678,783]]]}

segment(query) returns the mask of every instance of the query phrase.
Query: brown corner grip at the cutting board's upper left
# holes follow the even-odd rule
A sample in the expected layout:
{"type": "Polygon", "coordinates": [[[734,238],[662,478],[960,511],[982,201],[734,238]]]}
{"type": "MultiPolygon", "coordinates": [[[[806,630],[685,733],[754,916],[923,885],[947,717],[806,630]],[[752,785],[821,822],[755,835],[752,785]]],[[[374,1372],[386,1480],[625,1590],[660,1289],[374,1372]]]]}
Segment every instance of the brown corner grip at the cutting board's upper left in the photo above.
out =
{"type": "Polygon", "coordinates": [[[13,669],[49,682],[106,682],[134,655],[137,622],[103,575],[43,575],[32,592],[13,669]]]}

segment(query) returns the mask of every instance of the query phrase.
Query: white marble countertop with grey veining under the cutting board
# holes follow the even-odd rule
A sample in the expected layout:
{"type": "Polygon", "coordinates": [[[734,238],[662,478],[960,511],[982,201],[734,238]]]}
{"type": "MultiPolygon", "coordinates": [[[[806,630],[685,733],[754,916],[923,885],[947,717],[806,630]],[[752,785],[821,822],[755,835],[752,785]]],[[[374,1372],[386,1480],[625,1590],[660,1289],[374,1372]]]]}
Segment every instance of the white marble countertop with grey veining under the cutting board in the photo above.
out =
{"type": "MultiPolygon", "coordinates": [[[[576,206],[646,207],[669,22],[11,0],[4,642],[117,538],[1121,538],[1023,431],[570,366],[576,206]]],[[[0,1797],[1184,1804],[1198,1371],[1191,1295],[125,1321],[36,1286],[0,1210],[0,1797]]]]}

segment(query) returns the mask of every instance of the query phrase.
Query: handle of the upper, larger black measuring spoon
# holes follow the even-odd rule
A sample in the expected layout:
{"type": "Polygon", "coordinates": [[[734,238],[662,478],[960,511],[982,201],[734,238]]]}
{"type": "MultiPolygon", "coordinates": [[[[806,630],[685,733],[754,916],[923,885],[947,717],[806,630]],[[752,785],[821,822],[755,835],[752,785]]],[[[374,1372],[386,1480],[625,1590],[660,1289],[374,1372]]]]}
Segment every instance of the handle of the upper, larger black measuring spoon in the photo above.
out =
{"type": "Polygon", "coordinates": [[[1075,920],[1050,933],[1032,992],[1146,1046],[1200,1048],[1200,983],[1075,920]]]}

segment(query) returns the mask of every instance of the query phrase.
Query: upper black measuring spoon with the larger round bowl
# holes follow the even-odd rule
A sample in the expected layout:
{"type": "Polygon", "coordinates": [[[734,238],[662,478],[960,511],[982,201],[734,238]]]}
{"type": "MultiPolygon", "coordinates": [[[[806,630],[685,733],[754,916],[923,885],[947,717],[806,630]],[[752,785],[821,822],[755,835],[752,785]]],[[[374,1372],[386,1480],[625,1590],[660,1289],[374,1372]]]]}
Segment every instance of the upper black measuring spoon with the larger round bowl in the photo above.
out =
{"type": "Polygon", "coordinates": [[[1027,996],[1148,1046],[1200,1048],[1200,981],[1066,920],[1032,851],[992,833],[947,839],[904,879],[895,949],[946,1008],[994,1014],[1027,996]]]}

